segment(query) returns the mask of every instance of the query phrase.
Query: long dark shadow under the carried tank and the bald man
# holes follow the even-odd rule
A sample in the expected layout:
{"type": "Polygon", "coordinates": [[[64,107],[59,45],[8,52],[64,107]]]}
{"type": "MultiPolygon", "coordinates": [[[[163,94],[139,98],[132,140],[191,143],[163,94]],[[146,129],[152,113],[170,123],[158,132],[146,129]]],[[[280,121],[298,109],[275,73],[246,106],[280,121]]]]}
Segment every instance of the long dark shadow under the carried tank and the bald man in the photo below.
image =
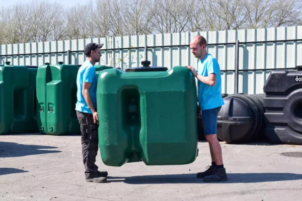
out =
{"type": "MultiPolygon", "coordinates": [[[[203,183],[196,174],[145,175],[131,177],[111,177],[109,182],[125,182],[128,184],[162,184],[162,183],[203,183]],[[117,180],[114,180],[117,179],[117,180]]],[[[228,181],[219,183],[260,183],[270,181],[290,181],[302,179],[302,174],[292,173],[228,173],[228,181]]]]}

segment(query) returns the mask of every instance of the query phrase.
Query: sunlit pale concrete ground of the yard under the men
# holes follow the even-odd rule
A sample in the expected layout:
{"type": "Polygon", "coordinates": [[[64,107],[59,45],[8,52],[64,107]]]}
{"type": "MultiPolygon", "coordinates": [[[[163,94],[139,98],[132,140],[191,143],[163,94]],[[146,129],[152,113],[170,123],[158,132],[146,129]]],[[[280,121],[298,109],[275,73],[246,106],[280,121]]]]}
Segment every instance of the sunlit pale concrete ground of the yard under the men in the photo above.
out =
{"type": "MultiPolygon", "coordinates": [[[[108,183],[84,179],[80,136],[0,136],[0,200],[301,200],[302,158],[281,155],[302,146],[221,142],[229,181],[196,178],[210,164],[206,142],[194,163],[105,166],[108,183]]],[[[296,153],[299,154],[299,153],[296,153]]]]}

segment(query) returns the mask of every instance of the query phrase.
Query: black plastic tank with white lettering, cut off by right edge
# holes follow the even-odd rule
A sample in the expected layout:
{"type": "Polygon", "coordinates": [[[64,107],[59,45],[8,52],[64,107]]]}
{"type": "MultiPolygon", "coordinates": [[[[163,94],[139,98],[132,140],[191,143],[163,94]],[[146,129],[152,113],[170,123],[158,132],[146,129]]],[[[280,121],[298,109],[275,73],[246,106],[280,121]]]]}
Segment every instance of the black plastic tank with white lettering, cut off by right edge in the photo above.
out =
{"type": "Polygon", "coordinates": [[[263,90],[268,142],[302,145],[302,66],[273,70],[263,90]]]}

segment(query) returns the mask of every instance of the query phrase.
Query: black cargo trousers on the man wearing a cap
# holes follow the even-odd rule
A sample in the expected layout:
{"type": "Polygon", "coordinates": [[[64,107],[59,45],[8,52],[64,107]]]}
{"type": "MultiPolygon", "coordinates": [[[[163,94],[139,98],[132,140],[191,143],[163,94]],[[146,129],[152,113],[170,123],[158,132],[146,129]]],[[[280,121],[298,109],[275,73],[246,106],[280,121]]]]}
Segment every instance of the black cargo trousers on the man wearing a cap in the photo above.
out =
{"type": "Polygon", "coordinates": [[[94,178],[98,175],[98,166],[95,164],[99,150],[98,124],[93,121],[90,113],[77,111],[81,126],[82,155],[85,166],[85,177],[94,178]]]}

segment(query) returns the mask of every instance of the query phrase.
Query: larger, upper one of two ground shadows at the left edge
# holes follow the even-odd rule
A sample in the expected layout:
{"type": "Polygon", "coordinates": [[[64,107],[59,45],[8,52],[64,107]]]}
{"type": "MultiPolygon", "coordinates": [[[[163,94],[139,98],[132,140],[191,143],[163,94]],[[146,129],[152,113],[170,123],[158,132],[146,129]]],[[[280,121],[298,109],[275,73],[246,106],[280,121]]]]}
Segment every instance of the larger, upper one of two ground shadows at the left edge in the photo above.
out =
{"type": "Polygon", "coordinates": [[[18,144],[15,142],[0,142],[0,158],[61,152],[58,150],[45,150],[56,148],[57,147],[18,144]]]}

